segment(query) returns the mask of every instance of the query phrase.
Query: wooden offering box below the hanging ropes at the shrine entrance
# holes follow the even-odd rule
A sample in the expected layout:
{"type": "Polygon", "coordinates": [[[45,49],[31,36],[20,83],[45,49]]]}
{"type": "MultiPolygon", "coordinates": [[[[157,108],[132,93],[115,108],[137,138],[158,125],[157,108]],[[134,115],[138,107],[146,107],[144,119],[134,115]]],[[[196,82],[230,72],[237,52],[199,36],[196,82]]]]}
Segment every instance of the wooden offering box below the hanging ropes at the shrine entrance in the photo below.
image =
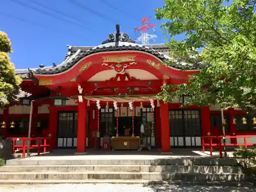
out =
{"type": "Polygon", "coordinates": [[[139,150],[139,137],[112,137],[112,151],[139,150]]]}

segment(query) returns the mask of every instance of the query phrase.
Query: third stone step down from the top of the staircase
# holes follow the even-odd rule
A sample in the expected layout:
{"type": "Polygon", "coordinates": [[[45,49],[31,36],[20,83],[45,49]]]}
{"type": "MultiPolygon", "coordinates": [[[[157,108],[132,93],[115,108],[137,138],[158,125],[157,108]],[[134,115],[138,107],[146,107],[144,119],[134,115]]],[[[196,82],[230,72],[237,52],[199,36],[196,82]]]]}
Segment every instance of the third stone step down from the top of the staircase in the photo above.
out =
{"type": "Polygon", "coordinates": [[[244,174],[204,174],[166,172],[2,172],[0,179],[121,179],[121,180],[180,180],[180,181],[243,181],[244,174]]]}

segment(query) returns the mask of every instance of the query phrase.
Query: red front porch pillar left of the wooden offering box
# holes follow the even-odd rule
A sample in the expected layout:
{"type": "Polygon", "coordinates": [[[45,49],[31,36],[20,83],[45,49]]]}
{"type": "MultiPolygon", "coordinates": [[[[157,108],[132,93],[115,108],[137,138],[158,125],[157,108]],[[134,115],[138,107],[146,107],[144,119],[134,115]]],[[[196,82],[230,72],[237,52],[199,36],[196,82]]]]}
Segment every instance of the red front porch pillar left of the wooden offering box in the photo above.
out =
{"type": "Polygon", "coordinates": [[[77,153],[86,153],[86,99],[82,102],[78,102],[78,123],[77,123],[77,153]]]}

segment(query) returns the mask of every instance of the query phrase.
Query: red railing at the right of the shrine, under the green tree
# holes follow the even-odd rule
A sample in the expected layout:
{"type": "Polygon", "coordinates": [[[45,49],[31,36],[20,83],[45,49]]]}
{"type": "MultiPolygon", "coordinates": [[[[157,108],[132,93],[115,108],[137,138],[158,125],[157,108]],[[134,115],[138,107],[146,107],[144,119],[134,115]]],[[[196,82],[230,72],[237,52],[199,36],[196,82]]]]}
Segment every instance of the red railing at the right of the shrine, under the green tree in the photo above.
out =
{"type": "MultiPolygon", "coordinates": [[[[248,146],[253,146],[252,143],[247,143],[247,138],[251,138],[251,136],[226,136],[226,139],[237,139],[237,138],[243,138],[244,143],[226,143],[226,146],[245,146],[247,148],[248,146]]],[[[205,148],[210,148],[210,155],[212,155],[212,149],[216,148],[220,152],[220,157],[222,157],[222,152],[224,151],[224,144],[221,143],[221,140],[223,139],[223,136],[204,136],[202,137],[202,152],[205,152],[205,148]],[[205,143],[205,139],[209,143],[205,143]],[[212,143],[212,139],[217,139],[217,143],[212,143]]]]}

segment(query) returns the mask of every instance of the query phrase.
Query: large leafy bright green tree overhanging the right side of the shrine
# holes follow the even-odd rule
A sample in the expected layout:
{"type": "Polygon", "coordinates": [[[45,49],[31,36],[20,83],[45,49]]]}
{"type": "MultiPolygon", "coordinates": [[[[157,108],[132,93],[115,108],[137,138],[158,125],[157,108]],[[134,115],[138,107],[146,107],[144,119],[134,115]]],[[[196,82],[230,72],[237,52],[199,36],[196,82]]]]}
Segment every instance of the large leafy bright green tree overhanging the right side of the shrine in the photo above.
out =
{"type": "Polygon", "coordinates": [[[255,0],[166,0],[157,8],[156,18],[165,21],[161,24],[165,35],[170,39],[186,35],[181,41],[167,43],[172,59],[164,65],[206,66],[187,83],[164,85],[159,98],[169,102],[187,95],[185,105],[218,103],[221,108],[255,113],[255,4],[255,0]]]}

